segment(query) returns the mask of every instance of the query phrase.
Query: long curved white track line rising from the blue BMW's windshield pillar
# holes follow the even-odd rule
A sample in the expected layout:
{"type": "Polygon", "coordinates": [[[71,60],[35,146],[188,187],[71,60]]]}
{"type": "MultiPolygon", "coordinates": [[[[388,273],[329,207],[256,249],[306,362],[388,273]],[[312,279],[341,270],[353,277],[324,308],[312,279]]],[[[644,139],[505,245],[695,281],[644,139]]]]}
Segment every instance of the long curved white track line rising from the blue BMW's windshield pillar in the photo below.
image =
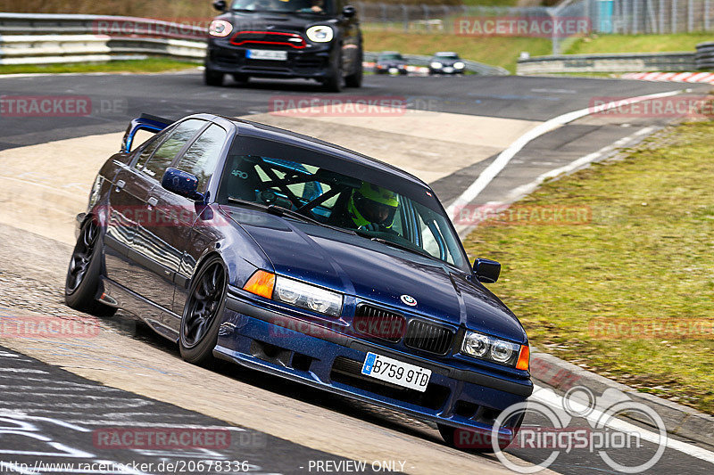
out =
{"type": "MultiPolygon", "coordinates": [[[[614,107],[619,107],[625,104],[649,101],[652,99],[659,99],[660,97],[669,97],[672,95],[677,95],[681,92],[684,91],[677,90],[670,91],[667,93],[639,95],[617,102],[608,102],[606,104],[603,104],[602,106],[598,105],[598,111],[608,111],[614,107]]],[[[461,196],[459,196],[455,201],[452,202],[451,206],[446,209],[446,212],[448,213],[449,217],[454,216],[454,212],[456,211],[456,209],[460,209],[461,207],[468,205],[471,201],[476,200],[477,196],[484,191],[486,186],[490,184],[499,173],[501,173],[502,169],[505,168],[506,165],[508,165],[508,163],[516,155],[516,153],[520,152],[523,147],[527,145],[527,143],[531,142],[532,140],[541,135],[547,134],[548,132],[554,130],[557,127],[568,124],[573,120],[583,118],[586,115],[591,114],[592,112],[593,109],[590,107],[588,107],[587,109],[581,109],[579,111],[568,112],[567,114],[562,114],[556,118],[546,120],[543,124],[519,136],[519,138],[514,143],[511,143],[511,145],[506,150],[499,153],[498,157],[496,157],[496,160],[494,160],[488,167],[486,167],[483,172],[481,172],[481,175],[478,176],[476,181],[472,183],[469,188],[467,188],[464,192],[461,193],[461,196]]]]}

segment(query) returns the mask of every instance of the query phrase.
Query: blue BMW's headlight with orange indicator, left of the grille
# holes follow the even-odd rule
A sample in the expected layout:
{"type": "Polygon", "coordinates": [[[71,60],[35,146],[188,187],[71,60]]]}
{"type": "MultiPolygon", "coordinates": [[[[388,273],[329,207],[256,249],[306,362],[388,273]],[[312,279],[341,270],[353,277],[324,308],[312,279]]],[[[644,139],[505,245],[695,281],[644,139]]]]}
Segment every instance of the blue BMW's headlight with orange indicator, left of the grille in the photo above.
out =
{"type": "Polygon", "coordinates": [[[341,293],[262,270],[251,275],[243,290],[318,314],[339,316],[342,313],[341,293]]]}

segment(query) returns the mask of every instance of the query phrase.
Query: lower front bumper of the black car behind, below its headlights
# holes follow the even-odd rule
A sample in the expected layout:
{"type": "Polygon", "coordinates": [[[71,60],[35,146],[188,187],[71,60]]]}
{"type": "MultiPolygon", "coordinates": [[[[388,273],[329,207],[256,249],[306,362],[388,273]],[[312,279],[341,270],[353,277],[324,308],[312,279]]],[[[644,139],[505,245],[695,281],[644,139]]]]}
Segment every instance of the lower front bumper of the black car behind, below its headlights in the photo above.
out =
{"type": "Polygon", "coordinates": [[[328,46],[288,50],[286,61],[246,58],[250,49],[212,40],[206,53],[208,70],[258,78],[326,78],[330,72],[331,50],[328,46]]]}

